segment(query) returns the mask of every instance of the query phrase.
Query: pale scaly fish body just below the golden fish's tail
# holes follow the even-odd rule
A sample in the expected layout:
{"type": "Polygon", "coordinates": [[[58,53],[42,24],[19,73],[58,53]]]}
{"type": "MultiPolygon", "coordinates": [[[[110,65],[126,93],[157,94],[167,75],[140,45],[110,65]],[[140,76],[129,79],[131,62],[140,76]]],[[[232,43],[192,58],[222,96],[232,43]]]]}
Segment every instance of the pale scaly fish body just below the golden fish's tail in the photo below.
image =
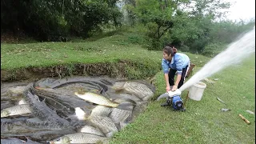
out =
{"type": "Polygon", "coordinates": [[[114,123],[124,122],[131,113],[131,110],[121,110],[114,108],[110,114],[110,118],[112,118],[114,123]]]}

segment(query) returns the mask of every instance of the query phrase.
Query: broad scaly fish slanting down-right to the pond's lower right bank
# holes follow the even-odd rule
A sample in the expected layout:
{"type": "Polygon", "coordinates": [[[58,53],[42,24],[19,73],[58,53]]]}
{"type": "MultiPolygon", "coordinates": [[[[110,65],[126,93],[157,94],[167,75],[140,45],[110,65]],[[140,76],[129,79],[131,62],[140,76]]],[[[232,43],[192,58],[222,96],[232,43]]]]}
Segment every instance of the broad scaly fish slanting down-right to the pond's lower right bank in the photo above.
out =
{"type": "Polygon", "coordinates": [[[118,132],[117,126],[115,126],[114,122],[109,117],[101,117],[101,116],[90,116],[90,122],[97,126],[102,132],[106,135],[106,137],[112,137],[115,132],[118,132]]]}

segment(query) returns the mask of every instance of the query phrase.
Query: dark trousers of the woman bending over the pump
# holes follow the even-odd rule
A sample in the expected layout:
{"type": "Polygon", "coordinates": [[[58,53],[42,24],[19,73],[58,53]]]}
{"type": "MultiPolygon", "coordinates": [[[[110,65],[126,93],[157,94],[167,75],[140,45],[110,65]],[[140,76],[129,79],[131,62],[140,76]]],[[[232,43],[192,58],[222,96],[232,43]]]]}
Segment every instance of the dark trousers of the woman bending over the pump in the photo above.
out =
{"type": "MultiPolygon", "coordinates": [[[[187,73],[188,68],[189,68],[189,65],[182,69],[182,78],[181,78],[181,80],[178,83],[178,89],[183,85],[183,83],[185,81],[185,77],[186,77],[186,73],[187,73]]],[[[177,70],[173,70],[173,69],[169,70],[168,76],[169,76],[169,84],[170,84],[170,86],[174,86],[174,76],[176,74],[176,71],[177,70]]]]}

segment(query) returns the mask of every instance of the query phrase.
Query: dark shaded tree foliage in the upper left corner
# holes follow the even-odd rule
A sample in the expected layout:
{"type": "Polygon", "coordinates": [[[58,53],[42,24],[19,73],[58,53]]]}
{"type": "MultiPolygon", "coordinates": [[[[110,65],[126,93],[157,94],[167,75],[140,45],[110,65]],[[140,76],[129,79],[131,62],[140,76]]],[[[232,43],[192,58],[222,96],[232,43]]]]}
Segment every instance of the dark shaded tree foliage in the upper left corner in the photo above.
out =
{"type": "Polygon", "coordinates": [[[1,29],[24,30],[41,40],[54,41],[68,35],[88,37],[91,30],[122,17],[117,0],[2,0],[1,29]]]}

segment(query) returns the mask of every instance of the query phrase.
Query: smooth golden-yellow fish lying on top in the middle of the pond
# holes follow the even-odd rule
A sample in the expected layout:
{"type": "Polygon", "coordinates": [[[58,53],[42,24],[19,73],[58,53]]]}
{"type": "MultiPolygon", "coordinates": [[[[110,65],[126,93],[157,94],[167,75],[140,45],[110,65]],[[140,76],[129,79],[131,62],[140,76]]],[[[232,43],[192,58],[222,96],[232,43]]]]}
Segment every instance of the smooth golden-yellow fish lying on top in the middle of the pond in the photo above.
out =
{"type": "Polygon", "coordinates": [[[117,107],[119,105],[117,102],[110,101],[109,98],[91,92],[74,92],[74,94],[87,102],[93,102],[102,106],[117,107]]]}

